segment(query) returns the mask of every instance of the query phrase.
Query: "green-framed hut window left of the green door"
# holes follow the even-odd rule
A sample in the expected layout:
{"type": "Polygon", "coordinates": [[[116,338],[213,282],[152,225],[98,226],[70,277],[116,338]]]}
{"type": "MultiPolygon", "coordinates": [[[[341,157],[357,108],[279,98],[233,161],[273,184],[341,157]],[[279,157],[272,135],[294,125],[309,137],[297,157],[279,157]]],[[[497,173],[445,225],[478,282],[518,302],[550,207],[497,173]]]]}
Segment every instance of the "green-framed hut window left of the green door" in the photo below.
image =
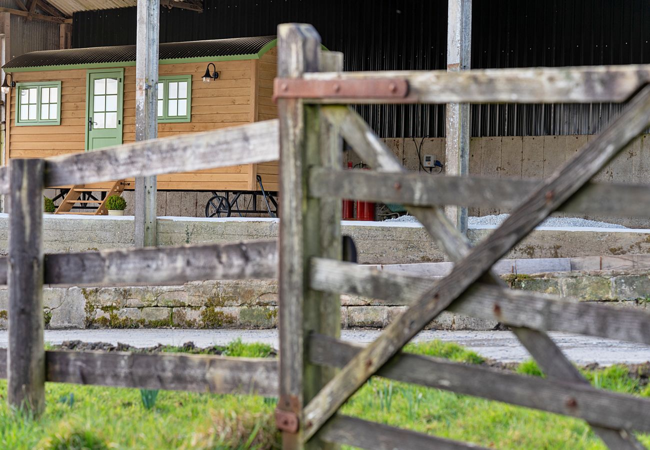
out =
{"type": "Polygon", "coordinates": [[[16,83],[16,126],[60,124],[60,81],[16,83]]]}

